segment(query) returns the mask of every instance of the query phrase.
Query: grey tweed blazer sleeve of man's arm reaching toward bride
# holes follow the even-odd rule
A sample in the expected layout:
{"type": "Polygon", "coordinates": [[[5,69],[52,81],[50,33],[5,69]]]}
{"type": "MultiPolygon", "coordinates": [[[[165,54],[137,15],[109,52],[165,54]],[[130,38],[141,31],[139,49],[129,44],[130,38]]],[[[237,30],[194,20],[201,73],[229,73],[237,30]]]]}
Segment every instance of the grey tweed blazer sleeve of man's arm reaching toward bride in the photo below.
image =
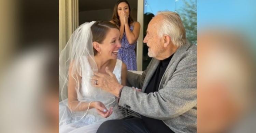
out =
{"type": "Polygon", "coordinates": [[[124,87],[119,106],[160,120],[177,117],[192,109],[197,104],[197,59],[183,58],[164,86],[150,94],[124,87]]]}

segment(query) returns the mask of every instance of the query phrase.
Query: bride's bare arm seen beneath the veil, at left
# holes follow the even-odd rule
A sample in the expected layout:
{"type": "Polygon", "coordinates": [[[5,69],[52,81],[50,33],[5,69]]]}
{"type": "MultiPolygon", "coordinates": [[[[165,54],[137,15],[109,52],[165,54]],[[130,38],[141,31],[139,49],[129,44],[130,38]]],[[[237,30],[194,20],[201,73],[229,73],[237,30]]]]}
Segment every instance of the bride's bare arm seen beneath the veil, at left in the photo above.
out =
{"type": "Polygon", "coordinates": [[[69,83],[68,83],[68,106],[69,109],[72,112],[76,112],[76,111],[86,111],[88,108],[94,108],[94,102],[92,102],[90,104],[89,107],[89,102],[80,102],[77,100],[77,83],[79,83],[79,86],[81,86],[81,79],[82,77],[75,72],[74,74],[72,74],[72,63],[70,64],[69,67],[69,83]],[[77,80],[77,81],[76,81],[77,80]]]}

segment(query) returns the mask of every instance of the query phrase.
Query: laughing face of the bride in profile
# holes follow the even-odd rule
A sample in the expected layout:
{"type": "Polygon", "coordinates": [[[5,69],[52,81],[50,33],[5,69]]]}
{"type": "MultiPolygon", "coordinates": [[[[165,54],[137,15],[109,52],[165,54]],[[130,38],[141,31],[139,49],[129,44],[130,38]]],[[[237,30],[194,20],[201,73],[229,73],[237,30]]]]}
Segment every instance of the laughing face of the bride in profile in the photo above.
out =
{"type": "Polygon", "coordinates": [[[105,40],[100,45],[100,56],[107,59],[117,59],[118,50],[121,48],[119,37],[120,31],[118,29],[110,29],[105,40]]]}

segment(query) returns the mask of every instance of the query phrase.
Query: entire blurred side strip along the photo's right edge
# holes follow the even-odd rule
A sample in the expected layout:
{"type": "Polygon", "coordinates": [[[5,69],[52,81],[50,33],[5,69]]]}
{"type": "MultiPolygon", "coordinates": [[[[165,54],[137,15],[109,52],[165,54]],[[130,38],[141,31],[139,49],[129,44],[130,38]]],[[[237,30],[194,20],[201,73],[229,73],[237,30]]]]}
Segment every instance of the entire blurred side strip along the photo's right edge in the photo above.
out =
{"type": "Polygon", "coordinates": [[[255,5],[197,2],[198,133],[256,132],[255,5]]]}

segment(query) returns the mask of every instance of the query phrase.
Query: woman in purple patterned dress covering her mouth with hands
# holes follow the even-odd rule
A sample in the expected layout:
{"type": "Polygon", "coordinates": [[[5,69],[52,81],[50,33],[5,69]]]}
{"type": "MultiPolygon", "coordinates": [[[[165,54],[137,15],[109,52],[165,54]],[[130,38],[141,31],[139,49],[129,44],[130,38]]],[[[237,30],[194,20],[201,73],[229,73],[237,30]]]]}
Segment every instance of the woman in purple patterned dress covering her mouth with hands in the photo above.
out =
{"type": "Polygon", "coordinates": [[[131,8],[126,0],[119,0],[110,21],[120,29],[120,40],[122,47],[118,51],[118,59],[122,60],[127,70],[137,71],[137,61],[134,49],[140,34],[140,23],[133,21],[131,8]]]}

